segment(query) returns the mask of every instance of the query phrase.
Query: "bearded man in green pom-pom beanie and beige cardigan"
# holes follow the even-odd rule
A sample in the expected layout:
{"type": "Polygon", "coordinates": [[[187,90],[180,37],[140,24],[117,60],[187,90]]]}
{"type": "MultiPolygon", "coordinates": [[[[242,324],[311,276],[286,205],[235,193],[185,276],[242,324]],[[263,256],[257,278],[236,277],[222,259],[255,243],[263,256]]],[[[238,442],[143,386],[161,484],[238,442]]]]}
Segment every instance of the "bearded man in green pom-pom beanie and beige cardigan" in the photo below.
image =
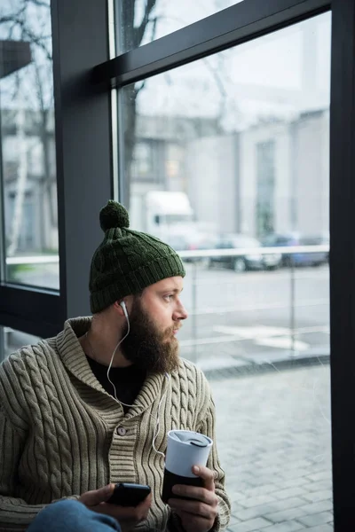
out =
{"type": "Polygon", "coordinates": [[[67,320],[0,368],[0,529],[26,529],[46,505],[76,499],[124,530],[218,532],[230,505],[215,444],[193,471],[202,487],[176,486],[188,498],[168,505],[161,498],[168,431],[215,440],[208,382],[178,354],[184,265],[161,240],[130,230],[119,203],[101,209],[100,225],[92,317],[67,320]],[[108,504],[118,481],[152,494],[136,508],[108,504]]]}

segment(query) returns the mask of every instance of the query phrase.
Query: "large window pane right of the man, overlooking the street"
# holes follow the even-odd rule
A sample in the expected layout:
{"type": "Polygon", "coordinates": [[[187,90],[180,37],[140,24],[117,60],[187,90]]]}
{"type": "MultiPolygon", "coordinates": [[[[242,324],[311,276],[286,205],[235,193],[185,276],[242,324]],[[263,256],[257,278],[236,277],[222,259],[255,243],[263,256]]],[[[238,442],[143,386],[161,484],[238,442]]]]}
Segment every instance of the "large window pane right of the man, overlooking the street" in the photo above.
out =
{"type": "Polygon", "coordinates": [[[231,530],[332,528],[329,62],[323,14],[122,90],[125,204],[185,257],[181,354],[216,395],[231,530]]]}

